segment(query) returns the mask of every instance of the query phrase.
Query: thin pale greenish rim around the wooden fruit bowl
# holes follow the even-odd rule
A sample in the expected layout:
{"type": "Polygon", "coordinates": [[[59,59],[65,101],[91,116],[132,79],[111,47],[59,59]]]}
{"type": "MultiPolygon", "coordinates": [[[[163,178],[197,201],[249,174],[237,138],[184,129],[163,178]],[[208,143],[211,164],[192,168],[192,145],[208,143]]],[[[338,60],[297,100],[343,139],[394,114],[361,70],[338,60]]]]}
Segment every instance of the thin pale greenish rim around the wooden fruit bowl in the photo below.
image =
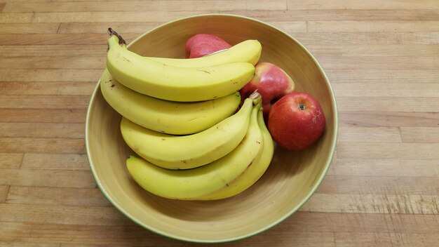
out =
{"type": "Polygon", "coordinates": [[[323,179],[325,178],[327,172],[330,169],[330,166],[332,164],[332,160],[334,159],[335,156],[335,149],[337,146],[337,140],[338,140],[338,132],[339,132],[339,119],[338,119],[338,110],[337,110],[337,100],[335,98],[335,93],[333,91],[333,88],[330,84],[330,80],[328,79],[325,71],[323,70],[323,67],[320,65],[320,63],[318,62],[318,60],[316,60],[316,58],[311,54],[311,52],[302,44],[300,43],[297,39],[295,39],[292,35],[288,34],[287,32],[283,31],[282,29],[279,29],[277,27],[274,27],[273,25],[270,25],[269,23],[263,22],[262,20],[257,20],[255,18],[250,18],[248,16],[244,16],[244,15],[235,15],[235,14],[227,14],[227,13],[206,13],[206,14],[199,14],[199,15],[189,15],[186,16],[184,18],[177,18],[175,20],[171,20],[169,22],[164,22],[161,25],[158,25],[156,27],[154,27],[153,29],[150,29],[147,32],[144,32],[144,34],[138,36],[137,38],[135,38],[133,41],[130,42],[130,44],[127,45],[127,47],[129,48],[131,44],[135,43],[135,41],[142,39],[143,36],[149,34],[150,32],[154,32],[156,29],[162,28],[166,25],[171,25],[174,22],[180,22],[182,20],[187,20],[187,19],[191,19],[191,18],[200,18],[200,17],[231,17],[231,18],[238,18],[238,19],[243,19],[243,20],[251,20],[252,22],[259,22],[259,24],[262,25],[266,25],[269,26],[273,29],[275,29],[278,32],[281,32],[283,34],[285,34],[286,36],[288,36],[290,39],[292,39],[293,41],[295,41],[304,51],[307,55],[309,55],[309,57],[313,60],[313,62],[315,62],[315,64],[318,67],[319,72],[323,75],[323,79],[325,80],[327,87],[330,90],[330,95],[331,95],[331,100],[332,100],[332,112],[334,112],[334,128],[335,128],[335,138],[332,140],[332,143],[330,145],[330,157],[327,160],[327,162],[325,163],[325,168],[323,170],[323,172],[320,174],[320,177],[318,178],[316,185],[311,189],[311,191],[309,192],[309,194],[307,194],[304,199],[302,199],[302,201],[300,203],[297,204],[297,206],[295,206],[294,208],[291,208],[290,211],[288,211],[288,213],[285,213],[285,215],[283,215],[282,217],[278,218],[278,220],[271,222],[269,225],[265,225],[264,227],[257,229],[253,232],[250,232],[248,234],[244,234],[241,236],[235,236],[235,237],[231,237],[228,239],[217,239],[217,240],[203,240],[203,239],[196,239],[196,238],[188,238],[188,237],[182,237],[182,236],[177,236],[175,234],[169,234],[167,232],[163,232],[161,230],[155,229],[154,227],[151,227],[150,225],[146,225],[142,222],[140,222],[140,220],[135,219],[128,211],[126,211],[123,207],[119,206],[112,198],[111,196],[109,196],[107,190],[104,188],[104,186],[102,185],[101,181],[99,178],[97,178],[97,172],[95,170],[95,166],[93,164],[92,161],[92,157],[90,154],[90,145],[89,145],[89,133],[88,133],[88,126],[89,126],[89,121],[90,121],[90,109],[93,108],[93,105],[95,104],[95,97],[97,95],[97,92],[100,90],[100,79],[97,81],[97,85],[95,86],[95,89],[93,90],[93,93],[90,97],[90,103],[88,105],[88,109],[87,109],[87,113],[86,113],[86,124],[85,124],[85,135],[86,135],[86,153],[87,153],[87,159],[88,159],[88,164],[90,166],[90,171],[93,173],[93,178],[95,179],[95,182],[97,184],[97,187],[100,189],[100,192],[102,192],[102,194],[104,194],[105,198],[107,198],[107,200],[112,203],[112,205],[117,208],[123,215],[125,215],[127,218],[129,218],[130,220],[132,220],[133,222],[135,222],[137,225],[140,225],[141,227],[143,227],[144,229],[148,229],[151,232],[154,232],[156,234],[160,234],[161,236],[166,236],[170,239],[175,239],[175,240],[179,240],[179,241],[188,241],[188,242],[194,242],[194,243],[226,243],[226,242],[231,242],[231,241],[238,241],[241,239],[247,239],[250,236],[254,236],[256,234],[265,232],[268,229],[271,229],[272,227],[278,225],[279,223],[283,222],[283,220],[286,220],[287,218],[289,218],[292,214],[296,213],[299,208],[301,208],[307,201],[309,201],[309,199],[311,198],[311,196],[313,196],[313,194],[316,192],[316,190],[318,189],[318,187],[320,187],[321,183],[323,182],[323,179]]]}

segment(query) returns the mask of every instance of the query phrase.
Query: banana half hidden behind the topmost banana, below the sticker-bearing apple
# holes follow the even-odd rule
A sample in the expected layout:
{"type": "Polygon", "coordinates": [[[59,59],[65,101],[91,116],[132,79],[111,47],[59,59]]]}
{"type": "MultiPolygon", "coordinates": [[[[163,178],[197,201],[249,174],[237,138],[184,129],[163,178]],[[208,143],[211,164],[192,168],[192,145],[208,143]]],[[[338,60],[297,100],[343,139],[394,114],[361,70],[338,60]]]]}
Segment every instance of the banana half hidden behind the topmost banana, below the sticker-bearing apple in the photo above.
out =
{"type": "Polygon", "coordinates": [[[261,57],[262,46],[255,39],[248,39],[232,46],[231,48],[205,55],[201,58],[155,58],[147,57],[156,62],[176,67],[207,67],[214,65],[224,65],[230,62],[250,62],[256,65],[261,57]]]}

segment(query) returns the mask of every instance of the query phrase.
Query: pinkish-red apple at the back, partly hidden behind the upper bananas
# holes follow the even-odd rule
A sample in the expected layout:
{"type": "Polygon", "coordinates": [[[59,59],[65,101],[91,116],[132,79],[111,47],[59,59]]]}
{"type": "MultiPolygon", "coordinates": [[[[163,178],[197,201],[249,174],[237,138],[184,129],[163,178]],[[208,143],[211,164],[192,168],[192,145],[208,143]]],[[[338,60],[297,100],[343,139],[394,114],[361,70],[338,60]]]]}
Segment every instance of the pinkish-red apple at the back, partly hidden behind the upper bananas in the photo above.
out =
{"type": "Polygon", "coordinates": [[[200,58],[228,48],[231,48],[231,45],[219,36],[195,34],[186,41],[186,58],[200,58]]]}

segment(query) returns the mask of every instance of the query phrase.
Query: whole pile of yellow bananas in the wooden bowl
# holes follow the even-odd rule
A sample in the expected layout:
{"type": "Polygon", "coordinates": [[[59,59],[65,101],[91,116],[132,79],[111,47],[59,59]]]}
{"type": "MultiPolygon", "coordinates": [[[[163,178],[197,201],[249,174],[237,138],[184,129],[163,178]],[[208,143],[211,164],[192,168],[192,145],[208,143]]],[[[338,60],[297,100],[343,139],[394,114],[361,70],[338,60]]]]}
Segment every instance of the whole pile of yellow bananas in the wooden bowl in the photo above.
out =
{"type": "Polygon", "coordinates": [[[259,93],[241,105],[262,47],[247,40],[202,58],[143,57],[109,29],[100,89],[121,114],[121,134],[135,152],[131,177],[169,199],[224,199],[266,171],[273,140],[259,93]],[[240,106],[241,105],[241,106],[240,106]]]}

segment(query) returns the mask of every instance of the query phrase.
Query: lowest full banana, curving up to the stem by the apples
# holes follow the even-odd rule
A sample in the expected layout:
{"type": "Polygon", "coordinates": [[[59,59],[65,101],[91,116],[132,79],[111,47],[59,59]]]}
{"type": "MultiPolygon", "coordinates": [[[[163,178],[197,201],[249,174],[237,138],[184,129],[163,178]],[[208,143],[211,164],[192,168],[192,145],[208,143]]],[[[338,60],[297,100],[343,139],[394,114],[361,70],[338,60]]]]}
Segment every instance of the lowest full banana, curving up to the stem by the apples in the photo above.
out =
{"type": "Polygon", "coordinates": [[[198,168],[169,170],[131,155],[126,160],[128,173],[140,187],[168,199],[194,200],[227,186],[252,164],[261,150],[264,140],[257,123],[259,107],[258,104],[252,109],[242,142],[226,156],[198,168]]]}

